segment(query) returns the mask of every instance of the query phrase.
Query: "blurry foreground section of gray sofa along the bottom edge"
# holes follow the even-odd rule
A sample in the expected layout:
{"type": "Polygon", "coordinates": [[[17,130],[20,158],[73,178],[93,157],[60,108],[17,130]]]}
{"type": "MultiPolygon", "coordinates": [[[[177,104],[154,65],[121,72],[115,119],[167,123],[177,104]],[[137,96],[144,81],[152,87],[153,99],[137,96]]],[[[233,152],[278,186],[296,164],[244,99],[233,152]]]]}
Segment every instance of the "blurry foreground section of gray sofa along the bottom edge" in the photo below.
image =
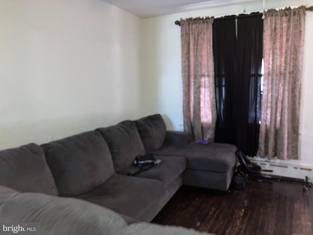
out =
{"type": "Polygon", "coordinates": [[[118,213],[80,199],[0,186],[0,223],[21,221],[38,223],[36,233],[27,233],[38,235],[209,235],[145,222],[129,225],[118,213]]]}

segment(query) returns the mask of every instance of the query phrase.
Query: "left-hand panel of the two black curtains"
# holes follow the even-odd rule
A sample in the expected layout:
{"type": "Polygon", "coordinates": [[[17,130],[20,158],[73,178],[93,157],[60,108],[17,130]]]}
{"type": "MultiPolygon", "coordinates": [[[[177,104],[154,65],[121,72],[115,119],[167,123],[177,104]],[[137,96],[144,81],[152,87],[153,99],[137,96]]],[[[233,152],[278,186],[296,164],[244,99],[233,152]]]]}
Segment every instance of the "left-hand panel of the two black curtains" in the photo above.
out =
{"type": "Polygon", "coordinates": [[[215,142],[237,144],[234,125],[236,21],[233,16],[213,22],[213,56],[217,121],[215,142]]]}

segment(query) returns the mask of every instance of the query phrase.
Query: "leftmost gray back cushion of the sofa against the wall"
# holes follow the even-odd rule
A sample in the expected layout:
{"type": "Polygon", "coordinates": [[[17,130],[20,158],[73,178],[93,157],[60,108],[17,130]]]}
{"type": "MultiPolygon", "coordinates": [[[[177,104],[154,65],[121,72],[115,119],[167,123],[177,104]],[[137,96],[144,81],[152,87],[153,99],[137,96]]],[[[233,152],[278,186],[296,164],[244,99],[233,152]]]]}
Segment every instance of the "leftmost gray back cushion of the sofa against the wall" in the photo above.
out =
{"type": "Polygon", "coordinates": [[[0,185],[57,195],[43,149],[35,143],[0,151],[0,185]]]}

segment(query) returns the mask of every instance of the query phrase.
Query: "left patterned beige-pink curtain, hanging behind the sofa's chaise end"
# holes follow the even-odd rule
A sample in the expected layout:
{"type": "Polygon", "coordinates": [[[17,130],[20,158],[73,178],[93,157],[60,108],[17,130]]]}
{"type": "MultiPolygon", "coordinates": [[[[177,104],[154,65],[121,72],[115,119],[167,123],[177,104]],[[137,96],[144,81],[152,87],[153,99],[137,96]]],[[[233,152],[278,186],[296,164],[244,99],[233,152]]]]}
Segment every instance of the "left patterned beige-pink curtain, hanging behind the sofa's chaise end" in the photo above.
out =
{"type": "Polygon", "coordinates": [[[181,20],[184,129],[195,140],[214,139],[216,101],[213,19],[181,20]]]}

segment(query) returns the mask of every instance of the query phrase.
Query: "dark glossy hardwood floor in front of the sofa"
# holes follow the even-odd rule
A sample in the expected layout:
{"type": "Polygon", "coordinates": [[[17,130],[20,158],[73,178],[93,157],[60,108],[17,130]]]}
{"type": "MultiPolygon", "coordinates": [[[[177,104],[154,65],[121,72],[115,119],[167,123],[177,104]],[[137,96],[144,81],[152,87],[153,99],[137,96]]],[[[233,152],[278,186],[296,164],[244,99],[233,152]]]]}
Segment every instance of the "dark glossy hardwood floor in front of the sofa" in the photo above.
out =
{"type": "Polygon", "coordinates": [[[250,180],[224,194],[183,186],[152,222],[217,235],[313,235],[313,188],[302,186],[250,180]]]}

